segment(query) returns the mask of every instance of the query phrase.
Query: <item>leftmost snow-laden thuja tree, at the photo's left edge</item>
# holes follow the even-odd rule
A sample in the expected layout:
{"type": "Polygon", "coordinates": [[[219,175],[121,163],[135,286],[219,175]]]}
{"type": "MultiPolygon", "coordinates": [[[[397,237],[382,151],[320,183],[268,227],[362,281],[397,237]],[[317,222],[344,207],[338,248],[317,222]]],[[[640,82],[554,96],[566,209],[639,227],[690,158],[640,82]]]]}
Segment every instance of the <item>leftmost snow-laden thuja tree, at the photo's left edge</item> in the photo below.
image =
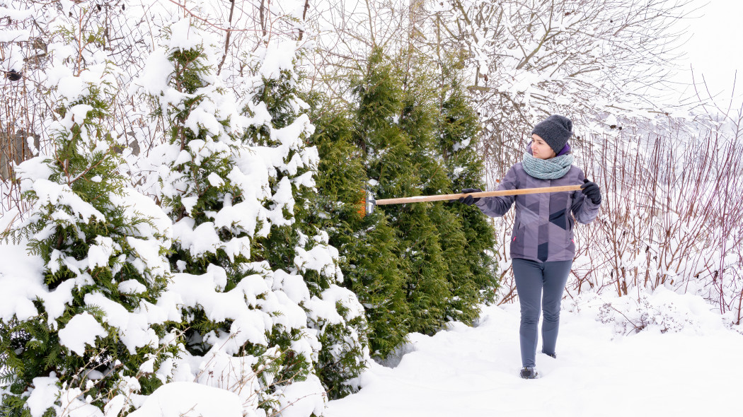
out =
{"type": "Polygon", "coordinates": [[[115,69],[101,32],[71,22],[49,45],[51,152],[16,169],[31,209],[10,236],[42,265],[3,289],[3,416],[126,412],[170,378],[178,352],[156,306],[171,223],[126,187],[106,129],[115,69]]]}

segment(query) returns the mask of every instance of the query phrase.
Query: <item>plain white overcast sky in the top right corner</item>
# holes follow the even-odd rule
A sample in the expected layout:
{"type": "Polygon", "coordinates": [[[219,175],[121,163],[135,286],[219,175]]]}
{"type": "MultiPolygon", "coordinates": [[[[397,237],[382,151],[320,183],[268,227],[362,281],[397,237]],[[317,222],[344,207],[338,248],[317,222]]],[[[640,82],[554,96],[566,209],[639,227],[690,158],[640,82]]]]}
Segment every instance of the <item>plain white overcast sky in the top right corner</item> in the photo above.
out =
{"type": "MultiPolygon", "coordinates": [[[[688,57],[683,67],[691,65],[698,82],[704,74],[710,92],[720,93],[717,99],[720,105],[727,105],[730,99],[737,69],[734,102],[739,108],[743,101],[743,1],[696,0],[695,5],[701,9],[692,16],[700,17],[687,19],[692,38],[685,45],[688,57]]],[[[690,71],[679,74],[679,80],[691,82],[690,71]]]]}

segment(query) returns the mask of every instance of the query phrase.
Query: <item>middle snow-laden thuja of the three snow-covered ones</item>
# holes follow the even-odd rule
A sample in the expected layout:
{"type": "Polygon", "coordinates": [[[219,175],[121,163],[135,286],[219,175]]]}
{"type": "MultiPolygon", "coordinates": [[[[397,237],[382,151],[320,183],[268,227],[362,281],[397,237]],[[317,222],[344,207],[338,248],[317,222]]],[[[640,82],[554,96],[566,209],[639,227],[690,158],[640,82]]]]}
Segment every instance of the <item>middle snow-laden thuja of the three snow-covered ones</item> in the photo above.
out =
{"type": "MultiPolygon", "coordinates": [[[[172,24],[139,80],[167,126],[167,142],[151,158],[175,222],[170,259],[178,273],[161,302],[183,314],[188,352],[176,379],[232,390],[256,413],[299,401],[319,415],[325,388],[317,361],[321,347],[335,345],[318,339],[363,313],[352,293],[330,292],[329,301],[305,283],[305,272],[337,278],[327,239],[285,234],[293,230],[293,187],[312,185],[317,152],[302,141],[311,124],[303,115],[277,128],[265,104],[241,114],[216,75],[215,44],[186,20],[172,24]],[[270,143],[247,140],[259,130],[270,143]],[[348,306],[345,315],[336,303],[348,306]],[[328,326],[308,327],[322,320],[328,326]]],[[[270,65],[270,53],[265,59],[270,65]]],[[[256,94],[251,82],[240,86],[245,99],[256,94]]]]}

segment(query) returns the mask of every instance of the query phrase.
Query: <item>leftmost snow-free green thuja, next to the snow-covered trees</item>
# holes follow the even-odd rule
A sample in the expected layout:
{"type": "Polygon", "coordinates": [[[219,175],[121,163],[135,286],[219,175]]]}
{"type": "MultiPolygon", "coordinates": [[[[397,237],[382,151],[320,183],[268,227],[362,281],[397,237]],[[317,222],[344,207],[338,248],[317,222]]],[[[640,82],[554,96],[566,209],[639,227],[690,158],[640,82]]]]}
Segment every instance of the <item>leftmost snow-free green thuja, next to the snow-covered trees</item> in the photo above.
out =
{"type": "Polygon", "coordinates": [[[400,240],[383,211],[364,215],[368,177],[352,114],[321,100],[313,102],[317,114],[311,144],[317,146],[320,162],[317,217],[312,221],[322,225],[342,255],[343,285],[363,303],[371,355],[381,359],[408,332],[400,240]]]}

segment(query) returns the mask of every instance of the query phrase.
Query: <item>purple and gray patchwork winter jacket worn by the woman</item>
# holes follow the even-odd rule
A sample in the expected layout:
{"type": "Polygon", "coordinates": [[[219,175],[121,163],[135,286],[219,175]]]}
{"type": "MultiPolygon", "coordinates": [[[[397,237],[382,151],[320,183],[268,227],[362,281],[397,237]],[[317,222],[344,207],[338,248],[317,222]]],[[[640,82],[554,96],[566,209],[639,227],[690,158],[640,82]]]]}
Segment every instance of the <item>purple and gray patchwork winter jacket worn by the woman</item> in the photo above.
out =
{"type": "MultiPolygon", "coordinates": [[[[540,180],[527,174],[522,162],[518,162],[510,168],[497,189],[580,185],[584,178],[583,171],[573,165],[562,178],[540,180]]],[[[573,260],[575,221],[591,223],[600,207],[580,191],[483,197],[475,205],[490,217],[500,217],[506,214],[514,200],[516,220],[513,223],[510,257],[537,262],[573,260]]]]}

